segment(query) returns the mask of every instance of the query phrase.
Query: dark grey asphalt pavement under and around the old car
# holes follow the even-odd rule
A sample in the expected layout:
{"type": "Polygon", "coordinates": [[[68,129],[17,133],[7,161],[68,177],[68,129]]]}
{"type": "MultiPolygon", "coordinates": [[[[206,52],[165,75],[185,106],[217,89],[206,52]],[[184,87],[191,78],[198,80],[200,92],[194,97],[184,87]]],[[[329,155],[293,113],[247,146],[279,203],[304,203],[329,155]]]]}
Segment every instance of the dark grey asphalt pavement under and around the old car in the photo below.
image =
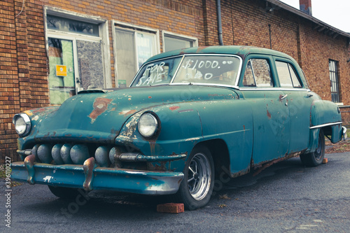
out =
{"type": "Polygon", "coordinates": [[[25,183],[6,196],[2,180],[0,232],[350,232],[350,153],[325,157],[319,167],[295,157],[258,176],[222,176],[208,206],[177,214],[156,211],[162,197],[111,191],[65,201],[25,183]]]}

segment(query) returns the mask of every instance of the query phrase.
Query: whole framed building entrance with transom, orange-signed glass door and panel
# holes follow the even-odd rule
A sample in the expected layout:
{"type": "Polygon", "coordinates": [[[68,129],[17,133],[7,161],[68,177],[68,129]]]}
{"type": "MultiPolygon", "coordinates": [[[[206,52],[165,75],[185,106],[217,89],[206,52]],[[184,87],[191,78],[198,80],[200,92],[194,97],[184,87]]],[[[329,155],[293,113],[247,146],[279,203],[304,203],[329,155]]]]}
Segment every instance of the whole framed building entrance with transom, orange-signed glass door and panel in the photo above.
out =
{"type": "Polygon", "coordinates": [[[80,90],[111,87],[106,20],[50,7],[45,19],[50,104],[62,104],[80,90]]]}

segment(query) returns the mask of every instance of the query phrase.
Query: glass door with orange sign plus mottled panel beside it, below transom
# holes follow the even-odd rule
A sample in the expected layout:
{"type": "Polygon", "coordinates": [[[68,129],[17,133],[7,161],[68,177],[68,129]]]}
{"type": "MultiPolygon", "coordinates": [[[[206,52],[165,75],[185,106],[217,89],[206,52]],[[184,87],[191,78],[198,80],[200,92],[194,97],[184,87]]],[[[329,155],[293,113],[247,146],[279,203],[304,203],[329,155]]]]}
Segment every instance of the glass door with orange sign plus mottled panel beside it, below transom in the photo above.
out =
{"type": "Polygon", "coordinates": [[[101,41],[49,37],[48,55],[51,104],[62,104],[80,90],[104,88],[101,41]]]}

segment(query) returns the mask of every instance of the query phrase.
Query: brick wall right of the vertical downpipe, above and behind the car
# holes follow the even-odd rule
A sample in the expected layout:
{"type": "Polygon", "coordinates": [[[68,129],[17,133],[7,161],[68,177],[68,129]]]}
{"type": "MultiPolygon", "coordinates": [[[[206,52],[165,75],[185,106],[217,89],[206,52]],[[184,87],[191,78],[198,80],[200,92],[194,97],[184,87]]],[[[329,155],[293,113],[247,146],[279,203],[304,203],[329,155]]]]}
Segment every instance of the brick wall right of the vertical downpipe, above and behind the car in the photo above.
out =
{"type": "MultiPolygon", "coordinates": [[[[339,62],[340,101],[350,106],[349,39],[325,35],[312,22],[282,8],[269,11],[264,1],[223,0],[224,45],[272,48],[292,56],[304,70],[310,89],[331,100],[329,59],[339,62]],[[270,36],[271,35],[271,36],[270,36]],[[271,43],[270,39],[271,38],[271,43]]],[[[344,125],[350,125],[350,108],[341,108],[344,125]]]]}

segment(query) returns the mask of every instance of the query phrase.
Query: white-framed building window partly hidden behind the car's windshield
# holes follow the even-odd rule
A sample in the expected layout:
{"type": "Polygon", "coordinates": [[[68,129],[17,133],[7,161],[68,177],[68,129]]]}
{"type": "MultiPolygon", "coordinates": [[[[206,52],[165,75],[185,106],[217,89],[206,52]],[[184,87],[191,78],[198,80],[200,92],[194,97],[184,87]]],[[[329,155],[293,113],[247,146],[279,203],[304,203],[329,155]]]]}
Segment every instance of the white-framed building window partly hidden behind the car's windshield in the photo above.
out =
{"type": "Polygon", "coordinates": [[[116,83],[128,87],[139,68],[159,51],[159,31],[122,22],[113,22],[116,54],[116,83]]]}

